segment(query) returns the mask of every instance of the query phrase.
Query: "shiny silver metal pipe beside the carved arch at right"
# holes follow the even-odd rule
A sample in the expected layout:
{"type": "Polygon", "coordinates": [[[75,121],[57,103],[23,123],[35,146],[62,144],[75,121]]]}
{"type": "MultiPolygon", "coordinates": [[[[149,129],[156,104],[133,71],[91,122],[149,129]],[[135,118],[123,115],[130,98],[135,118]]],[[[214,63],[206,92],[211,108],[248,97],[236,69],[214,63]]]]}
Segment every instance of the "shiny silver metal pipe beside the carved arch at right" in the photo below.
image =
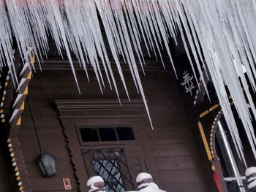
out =
{"type": "MultiPolygon", "coordinates": [[[[219,143],[220,151],[224,157],[225,166],[227,167],[227,174],[229,174],[230,177],[241,177],[238,166],[236,164],[236,159],[234,158],[233,151],[227,139],[227,134],[220,121],[217,123],[216,137],[219,143]]],[[[246,191],[243,187],[244,183],[241,180],[236,180],[236,183],[238,185],[238,191],[246,191]]]]}

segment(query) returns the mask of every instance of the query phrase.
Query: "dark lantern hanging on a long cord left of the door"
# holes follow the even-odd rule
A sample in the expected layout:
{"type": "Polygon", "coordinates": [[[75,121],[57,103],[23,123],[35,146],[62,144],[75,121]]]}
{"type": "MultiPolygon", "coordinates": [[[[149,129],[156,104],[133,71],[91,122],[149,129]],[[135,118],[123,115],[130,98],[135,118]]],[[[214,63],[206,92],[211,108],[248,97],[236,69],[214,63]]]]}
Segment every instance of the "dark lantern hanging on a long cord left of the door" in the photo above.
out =
{"type": "Polygon", "coordinates": [[[43,177],[51,177],[56,175],[56,158],[49,153],[41,155],[39,161],[37,161],[43,177]]]}

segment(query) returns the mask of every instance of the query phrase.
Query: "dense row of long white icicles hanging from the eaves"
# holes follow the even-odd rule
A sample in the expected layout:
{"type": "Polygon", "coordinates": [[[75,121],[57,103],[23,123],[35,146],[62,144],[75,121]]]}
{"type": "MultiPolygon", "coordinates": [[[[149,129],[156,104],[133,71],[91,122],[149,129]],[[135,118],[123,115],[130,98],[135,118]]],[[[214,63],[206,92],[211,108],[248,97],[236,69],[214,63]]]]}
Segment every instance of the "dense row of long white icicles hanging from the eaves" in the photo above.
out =
{"type": "MultiPolygon", "coordinates": [[[[93,67],[101,91],[105,87],[100,69],[102,65],[108,84],[113,86],[118,95],[99,18],[128,98],[119,58],[124,59],[129,66],[147,112],[146,98],[135,62],[137,57],[140,67],[144,68],[141,43],[146,45],[149,55],[154,53],[161,61],[161,51],[165,48],[175,70],[168,41],[172,37],[176,42],[176,35],[181,35],[193,72],[197,70],[203,80],[203,68],[208,68],[208,75],[214,82],[240,158],[245,163],[225,85],[256,158],[256,139],[249,108],[254,117],[256,110],[244,75],[246,69],[249,84],[255,91],[255,0],[0,0],[0,67],[8,65],[12,74],[16,74],[13,67],[12,34],[25,62],[29,62],[26,52],[30,47],[36,47],[34,52],[39,60],[42,59],[42,55],[49,51],[48,37],[53,37],[59,54],[62,55],[62,49],[66,50],[77,85],[70,51],[75,53],[85,71],[86,65],[93,67]],[[189,47],[195,58],[196,69],[192,65],[189,47]]],[[[15,75],[12,78],[15,82],[15,75]]],[[[204,80],[203,84],[206,85],[204,80]]]]}

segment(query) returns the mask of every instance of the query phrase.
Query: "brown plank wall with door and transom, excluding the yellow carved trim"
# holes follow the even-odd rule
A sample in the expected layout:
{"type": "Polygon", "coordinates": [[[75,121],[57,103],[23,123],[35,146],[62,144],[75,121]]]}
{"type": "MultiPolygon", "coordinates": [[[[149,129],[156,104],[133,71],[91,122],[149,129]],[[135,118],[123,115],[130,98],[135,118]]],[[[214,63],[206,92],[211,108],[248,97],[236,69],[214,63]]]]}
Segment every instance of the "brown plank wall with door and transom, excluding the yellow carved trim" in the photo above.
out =
{"type": "Polygon", "coordinates": [[[80,95],[67,61],[45,60],[42,72],[35,64],[20,126],[10,131],[23,191],[65,191],[64,178],[71,191],[88,191],[86,182],[95,174],[107,177],[116,191],[131,191],[140,172],[151,173],[165,191],[217,191],[203,166],[206,155],[196,145],[176,77],[155,61],[146,64],[141,78],[153,130],[128,68],[130,101],[118,80],[119,104],[108,85],[100,93],[90,69],[87,82],[78,63],[80,95]],[[44,153],[56,158],[53,177],[42,177],[37,165],[44,153]]]}

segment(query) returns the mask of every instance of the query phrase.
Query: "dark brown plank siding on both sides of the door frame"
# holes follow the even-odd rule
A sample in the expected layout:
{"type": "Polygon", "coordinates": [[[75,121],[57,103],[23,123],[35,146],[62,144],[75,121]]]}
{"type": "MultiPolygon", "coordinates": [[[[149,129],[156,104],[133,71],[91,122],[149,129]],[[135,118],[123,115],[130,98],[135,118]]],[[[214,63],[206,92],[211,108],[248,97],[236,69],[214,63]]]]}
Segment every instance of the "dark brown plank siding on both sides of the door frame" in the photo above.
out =
{"type": "MultiPolygon", "coordinates": [[[[83,156],[80,153],[80,148],[70,151],[68,144],[72,141],[65,137],[64,128],[66,127],[61,125],[59,113],[53,106],[53,101],[64,99],[74,101],[80,99],[113,100],[117,99],[116,93],[110,91],[106,81],[106,88],[102,95],[94,74],[89,72],[91,82],[87,82],[85,73],[78,71],[81,90],[81,95],[79,95],[69,70],[55,71],[50,68],[50,64],[46,66],[48,69],[35,73],[30,82],[28,100],[31,112],[26,101],[26,108],[22,116],[19,139],[23,150],[24,164],[34,192],[64,191],[62,178],[65,177],[70,178],[73,191],[79,191],[80,185],[86,185],[86,177],[80,180],[76,175],[76,172],[85,171],[80,169],[84,167],[81,165],[84,164],[83,156]],[[34,163],[39,157],[39,144],[34,125],[37,128],[42,153],[48,152],[57,158],[58,174],[54,177],[43,178],[34,163]],[[78,164],[74,165],[72,164],[72,155],[75,154],[80,159],[77,161],[78,164]]],[[[127,77],[130,98],[132,100],[140,99],[140,94],[137,93],[129,73],[124,72],[124,74],[127,77]]],[[[169,70],[163,71],[159,68],[146,71],[146,76],[141,78],[154,130],[151,130],[144,110],[144,117],[137,118],[135,122],[135,137],[138,138],[136,143],[124,145],[127,149],[127,161],[133,181],[135,182],[135,177],[139,172],[150,172],[155,183],[165,191],[214,191],[214,189],[207,188],[208,183],[205,177],[211,176],[204,175],[203,168],[200,166],[201,161],[206,161],[206,159],[201,159],[198,153],[176,88],[175,78],[169,70]]],[[[118,80],[117,83],[121,99],[127,99],[121,80],[118,80]]],[[[118,104],[118,101],[116,103],[118,104]]],[[[67,115],[70,115],[70,112],[67,115]]],[[[97,119],[97,123],[113,123],[114,121],[108,118],[103,120],[97,119]]],[[[122,118],[118,118],[118,120],[130,123],[129,120],[122,118]]],[[[83,124],[83,122],[89,123],[88,119],[80,118],[80,123],[83,124]]],[[[95,120],[91,121],[91,123],[93,122],[95,123],[95,120]]],[[[74,128],[72,131],[75,131],[74,124],[69,122],[69,126],[74,128]]],[[[78,140],[76,133],[73,138],[78,140]]]]}

